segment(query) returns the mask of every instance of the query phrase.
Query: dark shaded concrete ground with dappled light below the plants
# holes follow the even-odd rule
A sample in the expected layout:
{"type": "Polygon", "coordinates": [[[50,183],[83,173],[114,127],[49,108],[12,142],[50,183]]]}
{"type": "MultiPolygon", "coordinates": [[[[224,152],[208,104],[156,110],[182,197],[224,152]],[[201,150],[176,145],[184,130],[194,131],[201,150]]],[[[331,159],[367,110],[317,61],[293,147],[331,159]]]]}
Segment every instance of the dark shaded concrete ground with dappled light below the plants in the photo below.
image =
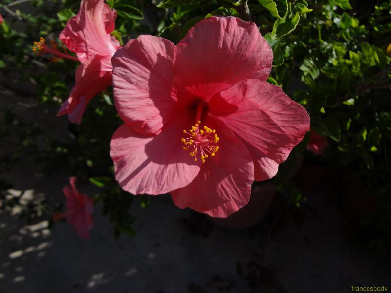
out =
{"type": "MultiPolygon", "coordinates": [[[[55,118],[55,109],[11,99],[5,91],[0,98],[2,110],[12,108],[26,121],[41,113],[41,123],[50,126],[45,131],[54,124],[57,132],[66,131],[66,118],[55,118]]],[[[12,151],[2,147],[3,154],[12,151]]],[[[26,201],[46,195],[64,202],[67,175],[48,176],[43,167],[25,157],[1,177],[13,184],[10,194],[25,191],[26,201]]],[[[87,241],[68,224],[26,225],[4,211],[0,293],[343,293],[353,285],[391,287],[390,256],[354,244],[331,189],[306,196],[305,207],[294,212],[277,196],[263,222],[242,230],[178,209],[169,196],[155,197],[144,210],[136,201],[137,236],[119,240],[99,206],[87,241]]]]}

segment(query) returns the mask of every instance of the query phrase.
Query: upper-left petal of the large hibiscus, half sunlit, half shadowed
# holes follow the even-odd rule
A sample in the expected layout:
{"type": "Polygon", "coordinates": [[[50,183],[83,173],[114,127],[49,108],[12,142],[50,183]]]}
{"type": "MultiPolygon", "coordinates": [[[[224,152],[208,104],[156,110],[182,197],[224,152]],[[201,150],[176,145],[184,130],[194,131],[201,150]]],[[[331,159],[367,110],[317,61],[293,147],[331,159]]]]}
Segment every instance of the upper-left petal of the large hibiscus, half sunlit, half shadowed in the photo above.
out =
{"type": "Polygon", "coordinates": [[[173,88],[174,44],[142,35],[115,53],[115,105],[122,120],[141,134],[158,134],[177,115],[173,88]]]}

